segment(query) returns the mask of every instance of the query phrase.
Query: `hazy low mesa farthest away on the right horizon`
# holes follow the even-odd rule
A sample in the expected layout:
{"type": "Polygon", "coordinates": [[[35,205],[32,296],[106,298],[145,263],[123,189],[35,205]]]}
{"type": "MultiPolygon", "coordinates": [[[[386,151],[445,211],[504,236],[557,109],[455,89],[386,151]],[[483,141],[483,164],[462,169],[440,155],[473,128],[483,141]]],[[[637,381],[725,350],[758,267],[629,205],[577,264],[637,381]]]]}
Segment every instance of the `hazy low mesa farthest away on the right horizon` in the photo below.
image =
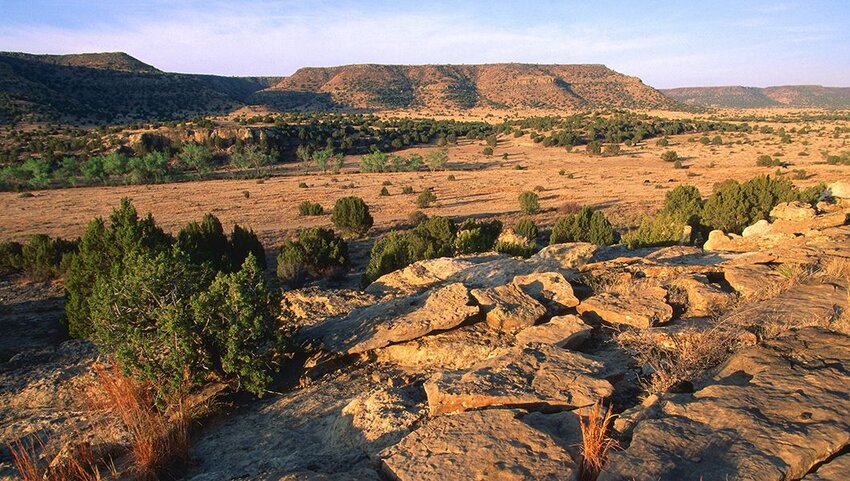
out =
{"type": "Polygon", "coordinates": [[[778,87],[684,87],[661,90],[664,95],[690,105],[724,108],[850,107],[850,87],[784,85],[778,87]]]}

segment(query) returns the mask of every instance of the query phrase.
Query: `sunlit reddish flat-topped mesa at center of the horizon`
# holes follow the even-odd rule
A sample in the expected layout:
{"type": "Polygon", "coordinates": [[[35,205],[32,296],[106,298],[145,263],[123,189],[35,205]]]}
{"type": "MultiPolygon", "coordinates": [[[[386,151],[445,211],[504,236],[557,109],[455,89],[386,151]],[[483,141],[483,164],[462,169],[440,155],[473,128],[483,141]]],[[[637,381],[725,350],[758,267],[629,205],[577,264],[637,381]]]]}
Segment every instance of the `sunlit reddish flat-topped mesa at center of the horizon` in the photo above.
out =
{"type": "Polygon", "coordinates": [[[673,102],[604,65],[347,65],[302,68],[270,91],[358,109],[664,108],[673,102]]]}

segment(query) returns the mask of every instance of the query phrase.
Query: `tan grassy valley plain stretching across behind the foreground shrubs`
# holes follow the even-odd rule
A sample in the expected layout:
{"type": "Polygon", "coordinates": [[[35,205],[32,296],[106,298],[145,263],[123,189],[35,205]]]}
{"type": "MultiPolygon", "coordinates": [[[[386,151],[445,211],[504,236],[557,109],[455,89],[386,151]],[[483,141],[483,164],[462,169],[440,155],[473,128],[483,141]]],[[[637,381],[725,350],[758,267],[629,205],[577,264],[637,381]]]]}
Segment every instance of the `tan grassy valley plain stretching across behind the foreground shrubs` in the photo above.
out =
{"type": "MultiPolygon", "coordinates": [[[[544,212],[537,215],[540,224],[554,222],[557,209],[572,202],[601,208],[615,224],[627,227],[660,206],[665,192],[676,185],[696,185],[708,195],[714,183],[725,179],[774,174],[775,167],[755,165],[762,154],[782,154],[781,159],[792,164],[782,169],[788,176],[793,176],[795,169],[805,170],[805,176],[798,174],[794,180],[801,187],[850,178],[850,167],[827,165],[821,154],[850,150],[850,135],[833,134],[835,127],[848,127],[850,122],[771,125],[789,131],[805,125],[809,132],[791,133],[790,144],[781,143],[776,134],[762,133],[721,134],[724,143],[718,146],[703,145],[693,134],[673,136],[667,147],[649,139],[634,147],[622,146],[616,157],[591,157],[582,147],[572,152],[547,148],[533,143],[528,135],[518,139],[502,136],[492,157],[483,155],[483,142],[462,140],[450,146],[448,169],[439,172],[361,174],[356,172],[358,158],[351,156],[338,175],[305,174],[302,166],[289,165],[277,171],[283,175],[265,181],[69,188],[36,191],[33,197],[3,192],[0,240],[21,240],[35,233],[79,236],[88,221],[107,216],[122,197],[133,199],[140,212],[152,212],[157,222],[172,232],[212,212],[226,229],[233,223],[250,226],[272,247],[299,228],[330,225],[329,215],[299,217],[298,204],[303,200],[319,202],[330,211],[336,199],[356,195],[369,204],[378,230],[403,223],[417,210],[416,194],[401,194],[402,187],[408,185],[417,194],[427,187],[434,189],[438,201],[425,209],[429,215],[498,216],[512,221],[520,217],[520,192],[542,188],[539,195],[544,212]],[[685,168],[674,169],[671,163],[662,161],[661,153],[666,150],[675,150],[685,168]],[[507,154],[507,160],[503,154],[507,154]],[[454,180],[449,180],[450,175],[454,180]],[[299,188],[302,182],[308,187],[299,188]],[[390,196],[379,195],[385,182],[390,183],[390,196]]],[[[399,154],[423,153],[429,148],[433,147],[399,154]]]]}

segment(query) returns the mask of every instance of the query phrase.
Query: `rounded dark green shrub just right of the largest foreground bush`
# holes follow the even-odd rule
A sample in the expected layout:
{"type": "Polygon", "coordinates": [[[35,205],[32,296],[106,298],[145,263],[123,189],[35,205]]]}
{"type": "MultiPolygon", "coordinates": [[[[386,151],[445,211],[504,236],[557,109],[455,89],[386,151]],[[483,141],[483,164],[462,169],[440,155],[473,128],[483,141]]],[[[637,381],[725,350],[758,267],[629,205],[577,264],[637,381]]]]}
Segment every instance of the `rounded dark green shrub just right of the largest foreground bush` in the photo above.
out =
{"type": "Polygon", "coordinates": [[[348,245],[333,230],[322,227],[305,229],[298,239],[280,247],[277,275],[292,287],[303,284],[306,274],[332,275],[348,265],[348,245]]]}

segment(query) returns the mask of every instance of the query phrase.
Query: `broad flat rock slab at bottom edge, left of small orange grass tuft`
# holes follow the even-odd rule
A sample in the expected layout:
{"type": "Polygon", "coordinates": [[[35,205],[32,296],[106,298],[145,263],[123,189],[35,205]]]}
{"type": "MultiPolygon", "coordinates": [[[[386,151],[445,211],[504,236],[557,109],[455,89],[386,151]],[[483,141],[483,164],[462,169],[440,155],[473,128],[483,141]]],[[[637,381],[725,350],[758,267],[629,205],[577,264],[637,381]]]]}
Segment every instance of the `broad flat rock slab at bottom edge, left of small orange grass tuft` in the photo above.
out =
{"type": "Polygon", "coordinates": [[[399,481],[575,481],[566,449],[521,415],[497,409],[434,419],[381,453],[384,471],[399,481]]]}

